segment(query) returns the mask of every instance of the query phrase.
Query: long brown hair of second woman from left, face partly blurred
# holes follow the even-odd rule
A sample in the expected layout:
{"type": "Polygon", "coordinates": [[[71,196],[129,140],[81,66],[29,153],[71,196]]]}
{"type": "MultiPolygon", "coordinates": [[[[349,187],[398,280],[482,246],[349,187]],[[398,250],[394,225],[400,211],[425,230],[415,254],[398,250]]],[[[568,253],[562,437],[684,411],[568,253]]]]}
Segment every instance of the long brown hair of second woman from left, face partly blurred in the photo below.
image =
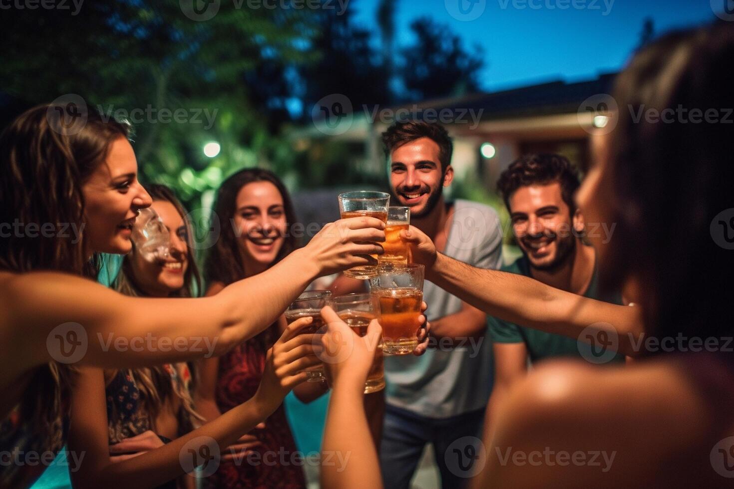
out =
{"type": "MultiPolygon", "coordinates": [[[[201,290],[201,279],[199,269],[196,265],[194,256],[194,246],[192,243],[192,232],[191,223],[186,218],[186,209],[178,200],[174,192],[166,185],[152,184],[145,185],[145,190],[153,199],[153,201],[165,201],[170,202],[173,207],[176,208],[178,214],[183,219],[183,223],[186,226],[186,259],[187,268],[183,274],[183,287],[170,294],[170,297],[195,297],[201,290]]],[[[131,253],[135,253],[135,248],[131,253]]],[[[117,290],[119,293],[132,296],[145,296],[145,293],[135,285],[135,275],[130,262],[130,255],[126,255],[123,259],[123,266],[120,268],[120,273],[117,274],[115,282],[112,284],[112,288],[117,290]]],[[[186,362],[179,364],[173,364],[173,367],[181,372],[178,367],[186,366],[189,368],[189,372],[195,372],[194,369],[190,368],[186,362]]],[[[117,375],[118,370],[105,371],[105,380],[111,380],[117,375]]],[[[191,397],[189,387],[183,382],[183,379],[178,382],[172,382],[171,375],[166,371],[163,366],[156,367],[142,367],[137,369],[128,369],[128,374],[133,378],[137,385],[138,390],[141,394],[141,402],[145,408],[145,413],[148,415],[150,420],[150,426],[153,430],[156,430],[156,418],[161,412],[166,400],[172,396],[176,396],[181,400],[181,406],[183,407],[183,415],[186,417],[186,426],[183,430],[192,429],[194,419],[197,421],[203,421],[203,417],[195,411],[194,402],[191,397]]],[[[180,374],[179,374],[180,375],[180,374]]]]}

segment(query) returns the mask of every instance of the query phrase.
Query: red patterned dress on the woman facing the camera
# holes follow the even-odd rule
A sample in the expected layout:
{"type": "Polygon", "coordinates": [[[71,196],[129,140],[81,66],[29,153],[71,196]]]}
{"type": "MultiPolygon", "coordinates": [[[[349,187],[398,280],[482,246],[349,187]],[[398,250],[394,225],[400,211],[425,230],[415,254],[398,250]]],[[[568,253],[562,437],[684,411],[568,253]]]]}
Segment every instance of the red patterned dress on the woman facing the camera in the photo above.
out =
{"type": "MultiPolygon", "coordinates": [[[[219,358],[217,375],[217,405],[224,413],[255,395],[265,367],[267,348],[275,341],[272,326],[257,337],[244,342],[219,358]]],[[[265,428],[253,430],[261,446],[252,450],[258,454],[241,457],[237,462],[222,460],[217,471],[206,479],[207,488],[302,489],[303,458],[297,453],[281,404],[265,420],[265,428]],[[248,460],[251,460],[252,463],[248,460]]]]}

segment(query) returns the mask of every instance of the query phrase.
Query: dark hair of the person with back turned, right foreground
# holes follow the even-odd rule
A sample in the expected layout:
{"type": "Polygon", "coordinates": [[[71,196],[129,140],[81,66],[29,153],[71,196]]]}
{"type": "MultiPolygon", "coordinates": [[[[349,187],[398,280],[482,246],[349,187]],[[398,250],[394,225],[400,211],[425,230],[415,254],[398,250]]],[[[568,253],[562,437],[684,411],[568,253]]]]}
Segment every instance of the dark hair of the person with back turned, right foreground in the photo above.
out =
{"type": "Polygon", "coordinates": [[[600,276],[617,287],[630,275],[640,279],[653,335],[733,331],[734,251],[716,242],[722,224],[716,216],[734,208],[732,59],[734,25],[719,22],[661,37],[615,83],[619,120],[605,171],[618,226],[600,276]],[[687,121],[635,120],[642,111],[680,114],[680,108],[690,111],[687,121]],[[714,110],[717,122],[693,122],[694,109],[714,110]]]}

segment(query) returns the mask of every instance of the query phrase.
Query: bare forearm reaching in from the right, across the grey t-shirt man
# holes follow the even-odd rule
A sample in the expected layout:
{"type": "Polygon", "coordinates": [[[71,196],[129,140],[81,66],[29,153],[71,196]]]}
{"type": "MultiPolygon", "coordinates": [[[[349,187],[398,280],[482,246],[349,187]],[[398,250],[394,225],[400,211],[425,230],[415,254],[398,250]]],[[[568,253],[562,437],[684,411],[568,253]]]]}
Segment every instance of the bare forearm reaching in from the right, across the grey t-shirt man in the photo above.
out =
{"type": "Polygon", "coordinates": [[[616,334],[618,350],[634,356],[642,334],[639,308],[585,298],[515,273],[474,268],[438,254],[426,278],[488,315],[578,339],[589,325],[616,334]]]}

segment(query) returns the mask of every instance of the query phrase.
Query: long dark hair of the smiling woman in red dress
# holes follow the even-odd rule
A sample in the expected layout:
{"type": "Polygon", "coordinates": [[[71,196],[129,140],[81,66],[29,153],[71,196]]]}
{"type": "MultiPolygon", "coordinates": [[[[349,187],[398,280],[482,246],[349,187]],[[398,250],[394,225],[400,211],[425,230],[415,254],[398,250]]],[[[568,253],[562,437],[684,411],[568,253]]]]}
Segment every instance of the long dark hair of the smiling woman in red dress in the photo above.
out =
{"type": "MultiPolygon", "coordinates": [[[[204,278],[207,284],[213,282],[221,282],[228,285],[232,282],[244,279],[248,276],[244,262],[240,255],[240,246],[234,229],[234,215],[237,210],[237,194],[244,185],[252,182],[270,182],[280,192],[283,198],[283,208],[286,212],[286,238],[283,246],[278,251],[275,261],[272,265],[283,260],[291,251],[299,246],[297,238],[291,232],[291,226],[296,221],[296,212],[288,194],[286,185],[280,181],[280,178],[273,172],[269,172],[260,168],[242,169],[225,180],[217,191],[217,199],[214,204],[214,216],[219,218],[221,223],[221,234],[219,239],[212,246],[211,251],[204,262],[204,278]]],[[[274,341],[274,325],[266,328],[258,334],[253,340],[258,342],[264,349],[269,348],[269,344],[274,341]]]]}

